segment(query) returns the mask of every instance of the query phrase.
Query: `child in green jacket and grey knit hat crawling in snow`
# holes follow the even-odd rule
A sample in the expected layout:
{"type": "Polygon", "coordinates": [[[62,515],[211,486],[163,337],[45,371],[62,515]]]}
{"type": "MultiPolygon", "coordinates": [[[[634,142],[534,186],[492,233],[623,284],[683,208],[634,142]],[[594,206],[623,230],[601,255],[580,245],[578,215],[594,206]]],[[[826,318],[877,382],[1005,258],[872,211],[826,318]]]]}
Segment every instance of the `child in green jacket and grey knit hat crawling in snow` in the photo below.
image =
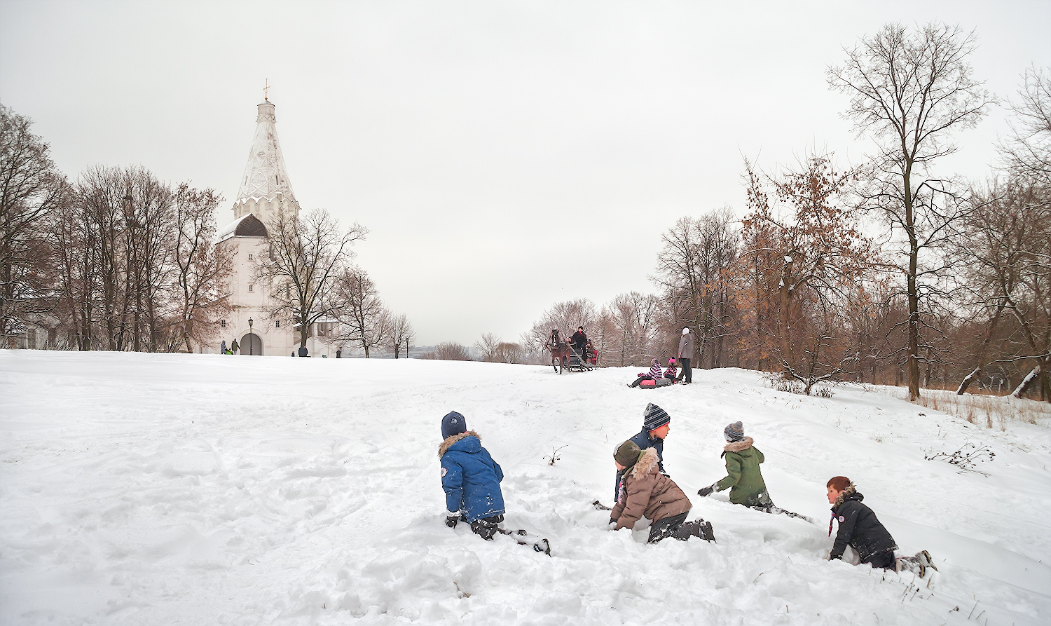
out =
{"type": "Polygon", "coordinates": [[[700,489],[697,494],[710,496],[715,491],[729,489],[729,501],[734,504],[755,508],[767,513],[783,513],[791,518],[812,521],[805,516],[774,506],[766,491],[766,482],[759,464],[765,461],[759,448],[753,445],[750,437],[744,436],[744,424],[734,422],[723,430],[726,446],[722,457],[726,458],[726,478],[700,489]]]}

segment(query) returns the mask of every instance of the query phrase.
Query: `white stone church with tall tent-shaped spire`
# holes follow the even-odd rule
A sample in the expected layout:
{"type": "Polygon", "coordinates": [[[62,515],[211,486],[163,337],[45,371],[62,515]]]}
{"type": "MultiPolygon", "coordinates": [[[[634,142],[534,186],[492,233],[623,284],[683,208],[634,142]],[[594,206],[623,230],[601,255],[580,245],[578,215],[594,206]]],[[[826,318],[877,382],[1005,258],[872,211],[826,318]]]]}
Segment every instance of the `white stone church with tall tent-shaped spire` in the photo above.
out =
{"type": "MultiPolygon", "coordinates": [[[[290,357],[300,348],[298,327],[293,328],[287,320],[270,319],[269,285],[256,284],[254,272],[260,255],[269,254],[266,224],[279,210],[300,211],[277,141],[276,121],[273,103],[269,99],[261,102],[248,165],[233,202],[234,219],[217,236],[218,245],[233,255],[231,311],[222,323],[221,340],[228,348],[236,340],[235,354],[246,356],[290,357]]],[[[307,339],[310,357],[335,356],[337,346],[327,341],[332,326],[331,322],[312,324],[307,339]]],[[[218,352],[219,348],[208,351],[218,352]]]]}

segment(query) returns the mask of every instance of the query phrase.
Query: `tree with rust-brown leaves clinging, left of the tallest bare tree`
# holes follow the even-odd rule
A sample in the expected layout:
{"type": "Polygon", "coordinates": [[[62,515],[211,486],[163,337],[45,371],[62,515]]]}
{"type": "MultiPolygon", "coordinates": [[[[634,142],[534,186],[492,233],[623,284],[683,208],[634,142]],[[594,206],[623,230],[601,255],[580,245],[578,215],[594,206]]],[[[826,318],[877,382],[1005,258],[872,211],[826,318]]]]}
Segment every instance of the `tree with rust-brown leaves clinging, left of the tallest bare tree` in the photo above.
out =
{"type": "Polygon", "coordinates": [[[743,236],[748,247],[767,253],[751,271],[765,272],[765,288],[776,288],[769,300],[777,323],[769,330],[782,372],[802,382],[807,395],[816,382],[857,377],[857,335],[846,311],[864,306],[859,286],[877,259],[843,198],[853,174],[837,171],[826,155],[811,155],[800,170],[776,178],[750,164],[746,170],[753,213],[743,220],[743,236]]]}

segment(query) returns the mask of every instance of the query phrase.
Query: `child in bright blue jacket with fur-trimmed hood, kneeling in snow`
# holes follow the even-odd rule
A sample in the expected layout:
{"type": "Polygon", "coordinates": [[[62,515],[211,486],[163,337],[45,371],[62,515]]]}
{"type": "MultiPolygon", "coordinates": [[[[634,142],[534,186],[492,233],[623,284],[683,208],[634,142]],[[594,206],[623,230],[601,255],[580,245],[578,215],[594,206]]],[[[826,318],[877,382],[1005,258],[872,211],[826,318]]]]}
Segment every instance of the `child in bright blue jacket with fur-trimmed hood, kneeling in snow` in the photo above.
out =
{"type": "Polygon", "coordinates": [[[471,524],[471,530],[491,541],[497,524],[503,521],[503,471],[458,412],[441,419],[441,437],[445,441],[438,446],[438,458],[446,490],[446,526],[455,528],[456,522],[463,520],[471,524]]]}

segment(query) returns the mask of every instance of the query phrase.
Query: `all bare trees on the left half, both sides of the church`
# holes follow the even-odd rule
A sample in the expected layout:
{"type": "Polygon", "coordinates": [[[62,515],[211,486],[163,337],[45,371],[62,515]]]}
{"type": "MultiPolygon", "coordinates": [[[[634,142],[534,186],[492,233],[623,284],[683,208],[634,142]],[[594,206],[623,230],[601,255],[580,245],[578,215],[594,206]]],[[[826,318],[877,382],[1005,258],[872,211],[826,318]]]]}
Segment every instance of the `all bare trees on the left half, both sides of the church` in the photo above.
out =
{"type": "MultiPolygon", "coordinates": [[[[171,185],[142,166],[89,167],[68,181],[32,121],[0,105],[0,337],[47,334],[46,347],[194,351],[218,341],[228,317],[232,257],[217,239],[222,198],[171,185]]],[[[352,263],[367,230],[325,210],[279,214],[254,282],[270,286],[269,314],[306,343],[328,339],[366,357],[412,344],[352,263]]],[[[34,346],[35,347],[35,346],[34,346]]]]}

